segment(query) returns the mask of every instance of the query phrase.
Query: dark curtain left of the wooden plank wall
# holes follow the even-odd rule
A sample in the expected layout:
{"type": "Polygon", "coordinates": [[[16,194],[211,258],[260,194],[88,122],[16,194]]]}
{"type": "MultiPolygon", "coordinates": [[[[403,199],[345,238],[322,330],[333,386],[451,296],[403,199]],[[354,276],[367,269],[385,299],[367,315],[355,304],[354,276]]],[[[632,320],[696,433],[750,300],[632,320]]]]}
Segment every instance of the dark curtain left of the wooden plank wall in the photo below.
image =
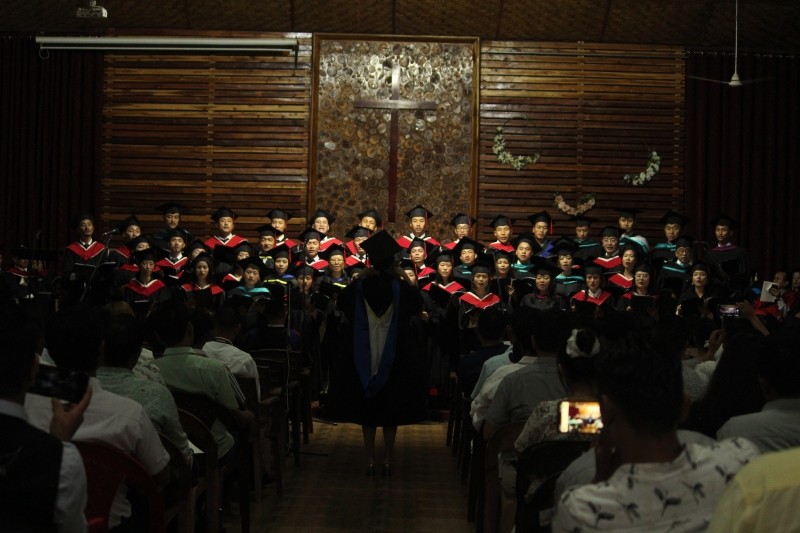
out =
{"type": "Polygon", "coordinates": [[[6,252],[60,250],[69,219],[99,208],[103,54],[51,52],[33,38],[0,37],[0,197],[6,252]]]}

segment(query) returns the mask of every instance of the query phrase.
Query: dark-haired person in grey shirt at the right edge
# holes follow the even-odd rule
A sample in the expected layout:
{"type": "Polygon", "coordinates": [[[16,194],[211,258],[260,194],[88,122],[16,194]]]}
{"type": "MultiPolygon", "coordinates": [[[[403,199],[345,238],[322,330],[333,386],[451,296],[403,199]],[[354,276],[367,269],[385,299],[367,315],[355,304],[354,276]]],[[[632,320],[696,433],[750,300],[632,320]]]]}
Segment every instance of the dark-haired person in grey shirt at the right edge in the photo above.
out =
{"type": "Polygon", "coordinates": [[[764,407],[731,418],[717,438],[745,437],[762,452],[800,446],[800,335],[785,330],[770,335],[756,364],[764,407]]]}

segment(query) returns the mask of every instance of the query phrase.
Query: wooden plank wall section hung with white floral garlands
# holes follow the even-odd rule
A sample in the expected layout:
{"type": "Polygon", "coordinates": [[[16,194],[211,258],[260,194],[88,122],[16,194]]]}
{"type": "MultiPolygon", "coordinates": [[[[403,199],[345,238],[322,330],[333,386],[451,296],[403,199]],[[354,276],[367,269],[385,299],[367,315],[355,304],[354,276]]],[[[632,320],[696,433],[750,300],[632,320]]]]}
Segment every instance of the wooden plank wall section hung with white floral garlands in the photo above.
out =
{"type": "Polygon", "coordinates": [[[643,209],[639,230],[663,240],[658,218],[683,209],[684,51],[677,47],[484,41],[480,65],[478,236],[499,213],[521,222],[547,209],[554,234],[572,231],[554,207],[556,192],[575,206],[596,195],[587,213],[600,227],[616,224],[617,206],[643,209]],[[525,117],[525,118],[522,118],[525,117]],[[541,154],[526,170],[501,165],[492,152],[497,127],[514,155],[541,154]],[[661,171],[642,187],[622,180],[647,165],[661,171]]]}

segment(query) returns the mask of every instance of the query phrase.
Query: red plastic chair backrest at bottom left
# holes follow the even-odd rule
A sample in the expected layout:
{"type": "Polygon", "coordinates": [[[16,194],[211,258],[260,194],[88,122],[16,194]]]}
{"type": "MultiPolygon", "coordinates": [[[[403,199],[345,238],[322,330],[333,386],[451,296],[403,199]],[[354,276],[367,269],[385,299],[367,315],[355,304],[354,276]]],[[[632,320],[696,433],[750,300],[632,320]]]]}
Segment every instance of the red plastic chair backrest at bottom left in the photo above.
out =
{"type": "Polygon", "coordinates": [[[108,523],[111,504],[117,489],[127,483],[147,501],[147,523],[150,532],[164,530],[164,502],[158,486],[144,466],[125,452],[96,442],[78,442],[86,470],[88,501],[86,518],[102,517],[108,523]]]}

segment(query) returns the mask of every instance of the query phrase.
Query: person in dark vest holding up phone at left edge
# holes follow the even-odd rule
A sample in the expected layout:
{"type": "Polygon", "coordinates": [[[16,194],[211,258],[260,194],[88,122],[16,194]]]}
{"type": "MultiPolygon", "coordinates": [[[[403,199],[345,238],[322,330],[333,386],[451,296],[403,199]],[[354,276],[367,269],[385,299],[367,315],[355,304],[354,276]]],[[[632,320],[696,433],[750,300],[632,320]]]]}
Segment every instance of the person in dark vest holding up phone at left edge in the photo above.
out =
{"type": "Polygon", "coordinates": [[[48,402],[49,433],[33,427],[23,403],[39,368],[41,331],[19,308],[11,308],[0,312],[0,336],[0,529],[85,531],[86,473],[80,453],[66,441],[83,420],[91,387],[71,408],[48,402]]]}

